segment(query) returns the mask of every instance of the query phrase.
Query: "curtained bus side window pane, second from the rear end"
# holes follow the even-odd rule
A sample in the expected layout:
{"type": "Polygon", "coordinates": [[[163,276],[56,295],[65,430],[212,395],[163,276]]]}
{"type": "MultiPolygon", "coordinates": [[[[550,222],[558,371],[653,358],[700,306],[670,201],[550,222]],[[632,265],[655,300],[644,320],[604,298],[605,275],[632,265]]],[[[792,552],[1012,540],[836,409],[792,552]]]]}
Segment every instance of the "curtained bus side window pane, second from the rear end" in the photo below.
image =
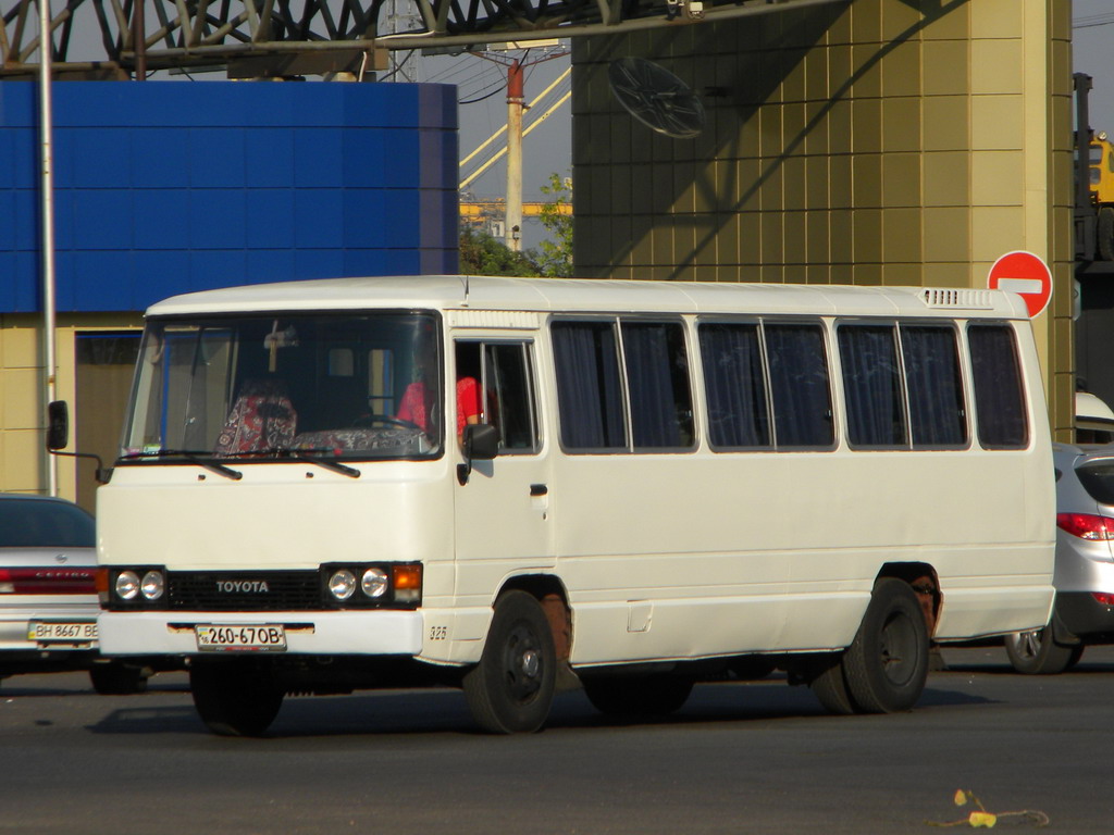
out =
{"type": "Polygon", "coordinates": [[[964,385],[951,327],[902,325],[901,352],[913,446],[967,443],[964,385]]]}

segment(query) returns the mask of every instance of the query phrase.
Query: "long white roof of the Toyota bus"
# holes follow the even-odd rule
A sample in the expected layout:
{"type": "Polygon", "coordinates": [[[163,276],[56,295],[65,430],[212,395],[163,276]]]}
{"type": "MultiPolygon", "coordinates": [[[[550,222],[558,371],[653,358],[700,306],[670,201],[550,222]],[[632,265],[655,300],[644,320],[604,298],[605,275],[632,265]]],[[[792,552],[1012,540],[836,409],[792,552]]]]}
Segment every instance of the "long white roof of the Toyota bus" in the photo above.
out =
{"type": "Polygon", "coordinates": [[[1027,318],[1019,296],[990,289],[460,275],[254,284],[174,296],[147,315],[377,308],[1027,318]]]}

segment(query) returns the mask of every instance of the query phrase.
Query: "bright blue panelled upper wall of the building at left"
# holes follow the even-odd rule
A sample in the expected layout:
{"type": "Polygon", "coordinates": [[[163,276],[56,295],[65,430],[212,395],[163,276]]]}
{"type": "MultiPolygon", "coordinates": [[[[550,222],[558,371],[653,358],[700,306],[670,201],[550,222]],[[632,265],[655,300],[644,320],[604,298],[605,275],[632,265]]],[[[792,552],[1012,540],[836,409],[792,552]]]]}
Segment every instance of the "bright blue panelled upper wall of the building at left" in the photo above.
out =
{"type": "MultiPolygon", "coordinates": [[[[0,84],[0,313],[40,306],[37,114],[0,84]]],[[[457,272],[452,87],[57,82],[53,117],[61,312],[457,272]]]]}

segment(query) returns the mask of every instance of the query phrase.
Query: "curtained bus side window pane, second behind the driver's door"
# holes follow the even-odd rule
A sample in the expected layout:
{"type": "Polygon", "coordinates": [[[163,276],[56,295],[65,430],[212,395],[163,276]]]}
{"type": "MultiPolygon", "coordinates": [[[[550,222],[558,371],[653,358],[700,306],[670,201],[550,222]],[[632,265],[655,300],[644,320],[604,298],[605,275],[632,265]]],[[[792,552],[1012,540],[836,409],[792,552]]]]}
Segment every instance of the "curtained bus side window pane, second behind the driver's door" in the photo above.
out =
{"type": "Polygon", "coordinates": [[[624,322],[622,330],[635,448],[691,445],[688,360],[681,325],[624,322]]]}

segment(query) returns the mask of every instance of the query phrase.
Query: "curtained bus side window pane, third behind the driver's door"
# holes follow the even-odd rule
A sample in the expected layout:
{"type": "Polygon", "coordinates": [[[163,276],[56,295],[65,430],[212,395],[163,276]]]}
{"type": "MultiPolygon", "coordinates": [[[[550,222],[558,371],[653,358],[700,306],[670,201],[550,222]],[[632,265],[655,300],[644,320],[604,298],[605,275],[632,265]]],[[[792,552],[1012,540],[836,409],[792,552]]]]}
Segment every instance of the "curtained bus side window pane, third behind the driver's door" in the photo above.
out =
{"type": "Polygon", "coordinates": [[[758,325],[701,325],[700,347],[712,445],[769,446],[758,325]]]}

